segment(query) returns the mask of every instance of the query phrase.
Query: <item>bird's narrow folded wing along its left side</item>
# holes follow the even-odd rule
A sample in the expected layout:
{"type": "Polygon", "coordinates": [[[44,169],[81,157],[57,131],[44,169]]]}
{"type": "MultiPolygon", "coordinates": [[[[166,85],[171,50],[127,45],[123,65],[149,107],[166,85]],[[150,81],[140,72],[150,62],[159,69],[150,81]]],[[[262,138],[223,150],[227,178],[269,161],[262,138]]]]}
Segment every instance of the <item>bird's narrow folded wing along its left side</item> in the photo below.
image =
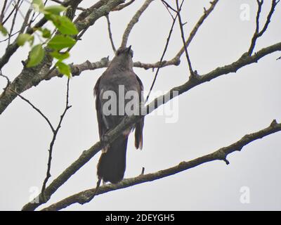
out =
{"type": "MultiPolygon", "coordinates": [[[[101,77],[100,77],[101,78],[101,77]]],[[[100,134],[100,139],[106,132],[106,125],[103,121],[103,114],[101,110],[100,105],[100,78],[98,78],[98,81],[96,82],[95,87],[93,88],[93,96],[96,96],[96,113],[98,118],[98,133],[100,134]]]]}

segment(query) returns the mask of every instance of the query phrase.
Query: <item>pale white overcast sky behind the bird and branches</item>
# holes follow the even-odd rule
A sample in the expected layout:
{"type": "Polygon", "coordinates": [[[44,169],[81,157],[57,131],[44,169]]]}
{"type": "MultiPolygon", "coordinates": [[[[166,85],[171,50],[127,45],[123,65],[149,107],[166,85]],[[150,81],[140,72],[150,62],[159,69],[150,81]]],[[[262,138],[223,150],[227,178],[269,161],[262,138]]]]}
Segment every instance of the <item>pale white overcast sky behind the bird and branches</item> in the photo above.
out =
{"type": "MultiPolygon", "coordinates": [[[[115,45],[121,43],[129,20],[143,4],[138,0],[121,12],[110,13],[115,45]]],[[[171,4],[174,1],[169,1],[171,4]]],[[[2,6],[2,1],[0,6],[2,6]]],[[[84,1],[87,7],[93,1],[84,1]]],[[[271,1],[265,1],[261,15],[263,25],[271,1]]],[[[182,13],[185,36],[209,8],[207,1],[186,0],[182,13]]],[[[218,66],[232,63],[249,49],[254,32],[256,1],[221,0],[214,12],[200,27],[189,47],[192,66],[200,75],[218,66]],[[240,19],[241,4],[249,4],[250,20],[240,19]]],[[[19,25],[21,18],[18,18],[19,25]]],[[[128,44],[134,61],[155,63],[164,49],[171,27],[171,18],[164,6],[155,1],[133,27],[128,44]]],[[[281,5],[275,10],[268,31],[257,41],[255,51],[281,39],[281,5]]],[[[1,37],[2,39],[3,37],[1,37]]],[[[165,59],[174,58],[181,48],[178,26],[165,59]]],[[[6,44],[1,44],[1,55],[6,44]]],[[[28,46],[19,49],[2,72],[12,80],[22,70],[20,60],[27,58],[28,46]]],[[[82,41],[71,51],[70,63],[91,62],[113,53],[105,18],[100,18],[82,41]]],[[[273,53],[237,73],[218,77],[179,96],[178,121],[165,123],[164,116],[145,117],[143,150],[133,147],[129,139],[125,177],[177,165],[183,160],[211,153],[228,146],[244,134],[268,127],[273,119],[281,121],[281,53],[273,53]]],[[[70,104],[53,149],[51,179],[76,160],[82,151],[98,141],[98,124],[93,99],[93,86],[105,69],[83,72],[70,81],[70,104]]],[[[150,88],[155,72],[134,68],[145,90],[150,88]]],[[[159,72],[155,91],[168,91],[186,82],[188,65],[185,56],[181,65],[159,72]]],[[[57,124],[65,107],[66,77],[41,82],[23,96],[37,105],[57,124]]],[[[0,88],[6,80],[0,77],[0,88]]],[[[152,98],[151,98],[152,99],[152,98]]],[[[150,100],[151,100],[150,99],[150,100]]],[[[0,116],[0,210],[20,210],[30,199],[30,188],[41,189],[46,176],[51,130],[30,105],[17,98],[0,116]]],[[[245,146],[242,152],[228,155],[223,161],[208,162],[180,174],[98,195],[86,205],[75,204],[66,210],[281,210],[281,133],[273,134],[245,146]],[[250,203],[240,203],[240,188],[249,187],[250,203]]],[[[79,169],[44,205],[96,186],[96,165],[99,155],[79,169]]],[[[50,181],[51,181],[50,179],[50,181]]],[[[48,184],[50,184],[50,181],[48,184]]],[[[39,207],[41,209],[43,207],[39,207]]]]}

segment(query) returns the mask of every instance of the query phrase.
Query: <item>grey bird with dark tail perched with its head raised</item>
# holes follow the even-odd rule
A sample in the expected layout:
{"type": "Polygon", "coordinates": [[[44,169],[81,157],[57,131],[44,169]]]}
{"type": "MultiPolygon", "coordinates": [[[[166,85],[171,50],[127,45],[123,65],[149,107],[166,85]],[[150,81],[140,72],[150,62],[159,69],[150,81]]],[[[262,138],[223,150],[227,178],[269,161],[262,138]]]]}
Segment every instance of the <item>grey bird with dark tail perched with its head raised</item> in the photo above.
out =
{"type": "MultiPolygon", "coordinates": [[[[129,115],[126,105],[130,103],[129,106],[139,106],[140,103],[143,103],[143,83],[136,73],[133,72],[132,58],[133,51],[131,46],[119,48],[115,53],[115,57],[94,86],[93,93],[96,96],[96,113],[101,141],[107,131],[115,128],[124,117],[129,115]],[[135,98],[124,98],[124,96],[131,93],[135,94],[135,98]],[[108,94],[112,94],[112,96],[109,98],[108,94]],[[112,105],[106,108],[109,102],[112,105]],[[110,113],[107,111],[110,111],[110,113]]],[[[143,125],[144,117],[136,124],[133,124],[132,127],[123,131],[115,141],[112,141],[112,143],[102,149],[97,165],[99,181],[103,180],[104,183],[109,181],[112,184],[122,181],[126,170],[128,136],[134,129],[135,147],[136,149],[142,149],[143,125]]]]}

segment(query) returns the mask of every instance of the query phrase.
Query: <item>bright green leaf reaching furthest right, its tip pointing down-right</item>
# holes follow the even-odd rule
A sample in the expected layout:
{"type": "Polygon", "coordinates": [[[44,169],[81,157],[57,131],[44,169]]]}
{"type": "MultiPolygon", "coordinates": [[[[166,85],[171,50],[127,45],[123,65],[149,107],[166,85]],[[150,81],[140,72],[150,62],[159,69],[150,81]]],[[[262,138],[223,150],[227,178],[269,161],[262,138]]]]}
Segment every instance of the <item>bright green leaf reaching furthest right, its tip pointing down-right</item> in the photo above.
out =
{"type": "Polygon", "coordinates": [[[55,25],[55,27],[57,27],[62,34],[68,34],[68,35],[78,34],[78,30],[76,26],[66,16],[51,15],[49,18],[50,20],[52,20],[53,25],[55,25]]]}

